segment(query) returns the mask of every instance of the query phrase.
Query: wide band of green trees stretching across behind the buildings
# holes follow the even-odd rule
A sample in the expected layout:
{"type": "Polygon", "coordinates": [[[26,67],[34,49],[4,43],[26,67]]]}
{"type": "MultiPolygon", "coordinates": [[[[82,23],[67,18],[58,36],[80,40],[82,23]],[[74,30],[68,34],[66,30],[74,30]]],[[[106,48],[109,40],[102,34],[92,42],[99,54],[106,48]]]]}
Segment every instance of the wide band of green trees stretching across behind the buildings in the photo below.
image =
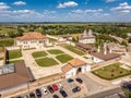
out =
{"type": "MultiPolygon", "coordinates": [[[[11,26],[13,27],[13,26],[11,26]]],[[[10,28],[11,28],[10,27],[10,28]]],[[[63,35],[83,33],[84,29],[93,29],[95,33],[110,34],[118,37],[127,38],[127,33],[131,32],[131,24],[23,24],[15,25],[16,32],[10,32],[9,37],[22,36],[26,32],[39,32],[48,35],[63,35]]]]}

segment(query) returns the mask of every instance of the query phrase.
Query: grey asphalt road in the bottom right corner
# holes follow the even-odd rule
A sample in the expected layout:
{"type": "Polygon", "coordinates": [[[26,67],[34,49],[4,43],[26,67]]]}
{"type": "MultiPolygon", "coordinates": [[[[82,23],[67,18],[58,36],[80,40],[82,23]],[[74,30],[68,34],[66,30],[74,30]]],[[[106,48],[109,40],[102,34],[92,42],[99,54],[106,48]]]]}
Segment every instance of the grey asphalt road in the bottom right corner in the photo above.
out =
{"type": "Polygon", "coordinates": [[[124,98],[122,89],[120,87],[100,91],[91,96],[86,96],[83,98],[124,98]]]}

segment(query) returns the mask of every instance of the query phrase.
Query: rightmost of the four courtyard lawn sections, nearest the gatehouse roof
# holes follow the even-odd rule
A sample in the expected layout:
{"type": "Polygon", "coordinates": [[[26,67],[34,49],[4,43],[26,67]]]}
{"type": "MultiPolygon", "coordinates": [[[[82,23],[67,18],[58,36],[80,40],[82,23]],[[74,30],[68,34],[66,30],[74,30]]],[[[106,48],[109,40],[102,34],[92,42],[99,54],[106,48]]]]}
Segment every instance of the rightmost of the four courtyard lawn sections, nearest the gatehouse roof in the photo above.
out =
{"type": "Polygon", "coordinates": [[[60,54],[56,57],[61,63],[66,63],[70,60],[72,60],[73,58],[69,54],[60,54]]]}

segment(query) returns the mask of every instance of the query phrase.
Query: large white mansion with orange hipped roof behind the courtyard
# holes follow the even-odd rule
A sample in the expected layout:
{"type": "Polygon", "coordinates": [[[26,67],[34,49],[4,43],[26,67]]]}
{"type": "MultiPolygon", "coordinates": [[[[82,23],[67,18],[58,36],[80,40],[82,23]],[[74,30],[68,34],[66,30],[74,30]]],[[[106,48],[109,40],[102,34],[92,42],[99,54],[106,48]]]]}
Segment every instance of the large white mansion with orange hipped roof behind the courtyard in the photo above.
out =
{"type": "Polygon", "coordinates": [[[15,38],[15,46],[20,46],[23,49],[27,48],[41,48],[49,45],[49,39],[40,33],[29,32],[22,37],[15,38]]]}

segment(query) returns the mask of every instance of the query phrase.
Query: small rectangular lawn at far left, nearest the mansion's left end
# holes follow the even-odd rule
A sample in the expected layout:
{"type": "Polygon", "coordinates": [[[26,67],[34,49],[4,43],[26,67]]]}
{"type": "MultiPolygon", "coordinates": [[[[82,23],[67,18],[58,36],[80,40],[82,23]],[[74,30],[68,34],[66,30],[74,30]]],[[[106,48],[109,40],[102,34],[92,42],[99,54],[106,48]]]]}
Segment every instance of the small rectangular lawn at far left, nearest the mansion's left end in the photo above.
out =
{"type": "Polygon", "coordinates": [[[22,57],[21,50],[11,50],[11,51],[9,51],[9,60],[10,59],[21,58],[21,57],[22,57]]]}

